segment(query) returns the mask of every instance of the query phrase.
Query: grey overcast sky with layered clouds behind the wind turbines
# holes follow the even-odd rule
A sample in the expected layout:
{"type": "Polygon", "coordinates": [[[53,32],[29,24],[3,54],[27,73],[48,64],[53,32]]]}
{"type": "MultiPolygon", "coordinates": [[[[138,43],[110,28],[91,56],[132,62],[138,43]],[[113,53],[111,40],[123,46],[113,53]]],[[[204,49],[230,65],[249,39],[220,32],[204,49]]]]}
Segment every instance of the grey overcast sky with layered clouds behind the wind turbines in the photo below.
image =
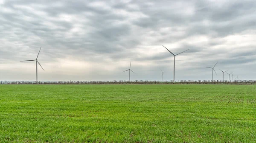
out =
{"type": "Polygon", "coordinates": [[[0,0],[0,80],[255,80],[255,0],[0,0]],[[228,75],[225,74],[225,80],[228,75]]]}

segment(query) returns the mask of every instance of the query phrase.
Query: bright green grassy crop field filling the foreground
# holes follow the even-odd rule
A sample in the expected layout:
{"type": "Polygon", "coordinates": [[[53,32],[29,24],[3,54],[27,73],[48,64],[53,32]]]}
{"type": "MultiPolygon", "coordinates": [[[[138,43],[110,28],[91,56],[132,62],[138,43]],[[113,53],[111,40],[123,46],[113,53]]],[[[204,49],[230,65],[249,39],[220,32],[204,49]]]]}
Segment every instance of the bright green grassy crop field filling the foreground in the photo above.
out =
{"type": "Polygon", "coordinates": [[[256,143],[253,85],[0,85],[1,143],[256,143]]]}

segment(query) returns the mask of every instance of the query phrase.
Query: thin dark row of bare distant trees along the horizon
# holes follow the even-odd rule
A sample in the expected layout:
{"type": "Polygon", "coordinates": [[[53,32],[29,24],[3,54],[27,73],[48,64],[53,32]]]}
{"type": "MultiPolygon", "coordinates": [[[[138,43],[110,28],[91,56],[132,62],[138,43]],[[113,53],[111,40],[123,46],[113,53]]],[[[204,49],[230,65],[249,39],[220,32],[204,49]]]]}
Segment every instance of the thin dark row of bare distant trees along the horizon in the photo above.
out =
{"type": "Polygon", "coordinates": [[[0,81],[0,84],[256,84],[256,80],[207,81],[0,81]]]}

